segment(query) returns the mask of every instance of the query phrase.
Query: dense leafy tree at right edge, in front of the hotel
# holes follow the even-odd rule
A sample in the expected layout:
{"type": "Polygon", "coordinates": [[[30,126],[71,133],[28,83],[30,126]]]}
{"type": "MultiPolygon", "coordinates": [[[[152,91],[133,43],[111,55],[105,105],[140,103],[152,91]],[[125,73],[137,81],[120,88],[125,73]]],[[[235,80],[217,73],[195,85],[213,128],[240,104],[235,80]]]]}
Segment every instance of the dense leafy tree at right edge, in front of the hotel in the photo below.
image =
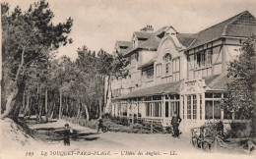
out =
{"type": "MultiPolygon", "coordinates": [[[[251,119],[254,131],[256,129],[255,42],[256,36],[253,34],[244,42],[238,59],[230,62],[227,77],[232,78],[233,81],[227,84],[228,95],[224,100],[224,110],[233,112],[236,119],[251,119]]],[[[255,135],[255,132],[251,135],[255,135]]]]}

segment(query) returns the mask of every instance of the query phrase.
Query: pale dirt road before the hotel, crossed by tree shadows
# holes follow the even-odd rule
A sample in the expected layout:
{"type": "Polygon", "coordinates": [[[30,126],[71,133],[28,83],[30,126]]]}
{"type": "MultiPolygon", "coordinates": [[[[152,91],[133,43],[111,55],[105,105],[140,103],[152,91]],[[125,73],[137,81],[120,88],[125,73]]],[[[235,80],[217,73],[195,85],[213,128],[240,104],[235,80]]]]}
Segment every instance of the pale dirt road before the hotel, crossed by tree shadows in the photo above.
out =
{"type": "MultiPolygon", "coordinates": [[[[38,132],[35,136],[45,143],[63,145],[62,131],[66,121],[50,121],[45,124],[36,124],[32,119],[27,121],[28,126],[38,132]]],[[[201,152],[189,143],[189,134],[185,133],[180,138],[173,138],[170,134],[145,134],[127,132],[99,132],[89,128],[69,123],[75,135],[72,136],[70,148],[86,150],[158,150],[158,151],[184,151],[201,152]]]]}

